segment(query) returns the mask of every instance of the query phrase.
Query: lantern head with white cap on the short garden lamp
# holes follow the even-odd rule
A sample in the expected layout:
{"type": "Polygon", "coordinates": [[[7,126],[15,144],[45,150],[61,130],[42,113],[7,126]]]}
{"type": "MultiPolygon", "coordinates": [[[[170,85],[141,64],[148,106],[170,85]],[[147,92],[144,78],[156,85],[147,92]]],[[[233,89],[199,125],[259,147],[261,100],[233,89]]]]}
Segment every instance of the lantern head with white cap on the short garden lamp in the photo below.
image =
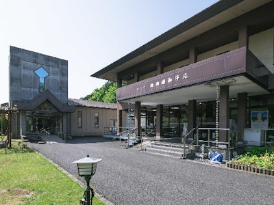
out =
{"type": "Polygon", "coordinates": [[[77,163],[79,176],[93,176],[96,172],[97,163],[99,163],[99,161],[101,161],[101,159],[85,157],[74,161],[73,163],[77,163]]]}

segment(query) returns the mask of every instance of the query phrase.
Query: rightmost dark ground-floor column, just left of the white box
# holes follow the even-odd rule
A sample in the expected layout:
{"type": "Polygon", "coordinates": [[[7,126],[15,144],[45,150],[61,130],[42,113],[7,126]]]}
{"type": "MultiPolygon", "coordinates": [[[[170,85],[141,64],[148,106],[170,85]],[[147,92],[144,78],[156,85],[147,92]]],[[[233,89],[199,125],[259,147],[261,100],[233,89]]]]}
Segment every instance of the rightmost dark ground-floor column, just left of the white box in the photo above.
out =
{"type": "Polygon", "coordinates": [[[237,106],[237,132],[238,141],[242,141],[243,132],[247,126],[247,93],[238,93],[238,106],[237,106]]]}

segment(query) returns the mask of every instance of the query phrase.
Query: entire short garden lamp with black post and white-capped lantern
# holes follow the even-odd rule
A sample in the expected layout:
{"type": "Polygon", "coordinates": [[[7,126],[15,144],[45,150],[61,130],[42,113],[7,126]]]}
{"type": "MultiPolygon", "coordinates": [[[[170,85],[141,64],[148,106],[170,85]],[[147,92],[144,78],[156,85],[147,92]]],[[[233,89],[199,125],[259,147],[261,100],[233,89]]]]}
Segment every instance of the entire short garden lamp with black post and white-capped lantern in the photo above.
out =
{"type": "Polygon", "coordinates": [[[81,200],[82,204],[91,205],[92,198],[94,196],[94,191],[90,187],[90,178],[96,172],[97,163],[99,163],[101,159],[96,159],[93,157],[86,156],[83,159],[79,159],[74,161],[73,163],[77,163],[78,167],[78,174],[79,176],[84,176],[86,180],[86,191],[84,193],[84,199],[81,200]],[[91,191],[91,198],[90,198],[90,191],[91,191]]]}

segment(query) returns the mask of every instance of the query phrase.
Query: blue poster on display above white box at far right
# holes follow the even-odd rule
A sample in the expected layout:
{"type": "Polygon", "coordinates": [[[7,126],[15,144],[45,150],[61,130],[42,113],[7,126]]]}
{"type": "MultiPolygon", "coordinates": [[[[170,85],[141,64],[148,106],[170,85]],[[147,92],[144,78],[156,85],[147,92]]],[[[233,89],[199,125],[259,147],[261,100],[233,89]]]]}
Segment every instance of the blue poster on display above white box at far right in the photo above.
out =
{"type": "Polygon", "coordinates": [[[251,128],[267,129],[269,127],[269,111],[251,111],[251,128]]]}

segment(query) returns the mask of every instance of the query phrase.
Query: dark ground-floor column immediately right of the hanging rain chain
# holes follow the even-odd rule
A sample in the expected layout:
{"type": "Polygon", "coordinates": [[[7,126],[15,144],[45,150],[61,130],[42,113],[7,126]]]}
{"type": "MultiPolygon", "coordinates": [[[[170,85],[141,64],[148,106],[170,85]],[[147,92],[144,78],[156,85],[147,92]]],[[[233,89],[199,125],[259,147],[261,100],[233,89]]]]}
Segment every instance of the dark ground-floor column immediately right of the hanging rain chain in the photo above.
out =
{"type": "MultiPolygon", "coordinates": [[[[220,87],[220,102],[219,102],[219,127],[228,128],[228,117],[229,117],[229,86],[222,85],[220,87]]],[[[219,132],[219,141],[227,141],[227,131],[219,132]]]]}

